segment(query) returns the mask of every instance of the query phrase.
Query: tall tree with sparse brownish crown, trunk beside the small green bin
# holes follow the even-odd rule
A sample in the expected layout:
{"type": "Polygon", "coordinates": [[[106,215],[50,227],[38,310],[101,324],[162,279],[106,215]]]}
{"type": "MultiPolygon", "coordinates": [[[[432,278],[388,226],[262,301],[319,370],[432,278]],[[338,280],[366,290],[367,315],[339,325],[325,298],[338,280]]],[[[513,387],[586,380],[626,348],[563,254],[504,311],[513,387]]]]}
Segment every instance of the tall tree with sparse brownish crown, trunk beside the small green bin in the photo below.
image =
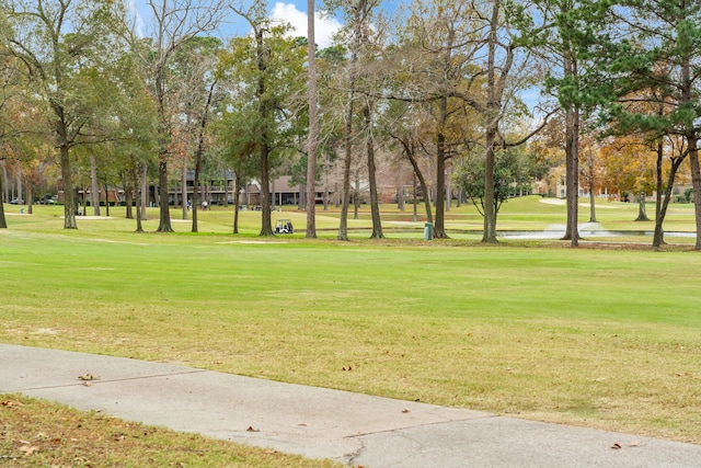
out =
{"type": "Polygon", "coordinates": [[[484,35],[480,32],[475,8],[470,1],[415,1],[412,14],[400,25],[400,47],[395,49],[394,61],[399,67],[393,70],[393,81],[403,89],[393,92],[391,98],[422,102],[433,115],[430,144],[425,148],[433,148],[435,161],[436,238],[448,237],[445,230],[446,160],[458,144],[450,136],[450,121],[456,118],[456,110],[464,105],[458,104],[463,100],[484,110],[483,92],[478,89],[484,83],[484,75],[475,64],[484,46],[484,35]],[[461,99],[456,99],[456,94],[461,99]]]}

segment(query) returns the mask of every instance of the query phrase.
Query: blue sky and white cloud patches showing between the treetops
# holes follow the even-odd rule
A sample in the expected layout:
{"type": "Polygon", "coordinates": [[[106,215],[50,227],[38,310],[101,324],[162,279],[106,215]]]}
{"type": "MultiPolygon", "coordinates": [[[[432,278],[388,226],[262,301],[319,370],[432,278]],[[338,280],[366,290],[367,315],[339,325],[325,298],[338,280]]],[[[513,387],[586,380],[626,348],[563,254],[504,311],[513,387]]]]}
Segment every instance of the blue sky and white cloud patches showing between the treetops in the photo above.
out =
{"type": "MultiPolygon", "coordinates": [[[[147,0],[129,0],[131,7],[138,12],[137,15],[137,30],[145,32],[149,28],[151,22],[151,13],[148,7],[147,0]]],[[[296,0],[294,2],[271,2],[269,16],[275,20],[281,20],[289,23],[295,27],[292,36],[307,36],[307,1],[296,0]]],[[[321,18],[319,13],[315,14],[314,33],[315,42],[319,48],[325,48],[331,45],[333,34],[341,27],[341,22],[334,18],[321,18]]],[[[221,36],[223,38],[231,38],[233,36],[246,35],[251,32],[251,27],[248,23],[231,12],[229,15],[230,24],[227,24],[221,30],[221,36]]]]}

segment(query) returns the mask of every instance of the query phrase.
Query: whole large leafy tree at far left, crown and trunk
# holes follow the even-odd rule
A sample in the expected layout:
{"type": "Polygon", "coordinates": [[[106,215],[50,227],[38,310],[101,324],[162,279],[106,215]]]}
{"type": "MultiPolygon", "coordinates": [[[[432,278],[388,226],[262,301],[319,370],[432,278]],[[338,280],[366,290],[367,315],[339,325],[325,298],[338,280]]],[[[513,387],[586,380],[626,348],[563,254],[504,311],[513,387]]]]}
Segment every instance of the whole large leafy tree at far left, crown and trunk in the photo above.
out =
{"type": "Polygon", "coordinates": [[[28,91],[42,99],[50,115],[51,138],[60,155],[64,184],[64,227],[76,229],[71,149],[90,141],[90,98],[80,92],[80,65],[99,62],[113,27],[123,18],[114,0],[28,1],[0,4],[2,46],[21,61],[28,91]]]}

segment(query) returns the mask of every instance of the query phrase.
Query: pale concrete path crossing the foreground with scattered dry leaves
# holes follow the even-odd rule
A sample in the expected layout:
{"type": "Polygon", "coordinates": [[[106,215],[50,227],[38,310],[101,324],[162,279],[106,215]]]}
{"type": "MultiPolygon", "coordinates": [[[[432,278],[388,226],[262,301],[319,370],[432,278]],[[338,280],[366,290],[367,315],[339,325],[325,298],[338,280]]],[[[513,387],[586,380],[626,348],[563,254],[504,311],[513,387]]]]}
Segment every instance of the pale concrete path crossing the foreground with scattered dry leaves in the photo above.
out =
{"type": "Polygon", "coordinates": [[[699,445],[7,344],[0,392],[369,468],[701,467],[699,445]]]}

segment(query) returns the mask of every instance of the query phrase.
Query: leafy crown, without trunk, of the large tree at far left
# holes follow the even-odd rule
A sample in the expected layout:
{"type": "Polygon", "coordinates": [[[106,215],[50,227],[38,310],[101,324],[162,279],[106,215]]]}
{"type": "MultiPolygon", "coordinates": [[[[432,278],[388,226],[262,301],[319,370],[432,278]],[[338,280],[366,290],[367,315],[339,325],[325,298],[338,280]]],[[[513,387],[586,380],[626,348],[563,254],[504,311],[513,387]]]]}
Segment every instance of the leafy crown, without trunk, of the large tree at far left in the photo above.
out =
{"type": "Polygon", "coordinates": [[[110,77],[124,11],[113,0],[3,2],[0,46],[26,75],[25,93],[39,98],[57,145],[94,140],[83,132],[104,118],[114,93],[110,77]]]}

